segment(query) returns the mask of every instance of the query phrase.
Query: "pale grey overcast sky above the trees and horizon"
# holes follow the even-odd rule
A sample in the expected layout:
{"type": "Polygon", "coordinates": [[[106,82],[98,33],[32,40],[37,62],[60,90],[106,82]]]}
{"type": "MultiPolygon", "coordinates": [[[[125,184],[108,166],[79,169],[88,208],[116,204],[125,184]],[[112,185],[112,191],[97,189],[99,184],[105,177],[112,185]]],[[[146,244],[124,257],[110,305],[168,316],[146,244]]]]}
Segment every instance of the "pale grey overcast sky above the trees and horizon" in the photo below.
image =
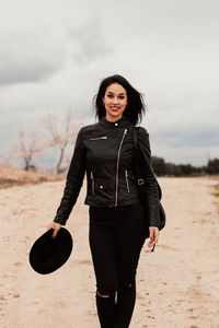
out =
{"type": "Polygon", "coordinates": [[[92,97],[118,73],[146,96],[152,155],[219,157],[219,1],[0,0],[0,150],[39,117],[92,97]]]}

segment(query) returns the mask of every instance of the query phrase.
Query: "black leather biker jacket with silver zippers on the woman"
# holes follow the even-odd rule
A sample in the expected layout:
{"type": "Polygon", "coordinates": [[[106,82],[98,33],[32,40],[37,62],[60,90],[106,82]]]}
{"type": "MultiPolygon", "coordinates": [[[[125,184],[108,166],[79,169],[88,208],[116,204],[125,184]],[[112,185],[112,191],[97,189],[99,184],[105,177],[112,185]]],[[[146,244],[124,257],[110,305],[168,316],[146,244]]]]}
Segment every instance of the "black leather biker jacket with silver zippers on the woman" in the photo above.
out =
{"type": "MultiPolygon", "coordinates": [[[[87,172],[87,197],[84,203],[95,207],[120,207],[140,203],[135,178],[132,148],[134,125],[125,117],[115,122],[104,118],[97,124],[82,127],[78,133],[73,156],[67,174],[66,187],[54,222],[62,225],[78,199],[87,172]]],[[[151,163],[149,134],[142,127],[138,140],[143,156],[151,163]]],[[[159,226],[159,192],[154,177],[148,181],[148,203],[151,208],[150,225],[159,226]]]]}

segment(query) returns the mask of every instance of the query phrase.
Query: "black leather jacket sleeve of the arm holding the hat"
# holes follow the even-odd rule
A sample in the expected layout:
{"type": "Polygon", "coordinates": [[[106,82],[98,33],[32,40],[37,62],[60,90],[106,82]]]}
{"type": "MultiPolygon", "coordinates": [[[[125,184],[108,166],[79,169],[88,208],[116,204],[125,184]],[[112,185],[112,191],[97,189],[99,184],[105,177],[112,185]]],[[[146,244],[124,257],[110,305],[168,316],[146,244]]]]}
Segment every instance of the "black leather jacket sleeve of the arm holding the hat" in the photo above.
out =
{"type": "Polygon", "coordinates": [[[76,140],[73,155],[67,174],[64,196],[54,219],[54,222],[60,223],[61,225],[66,224],[83,184],[85,173],[85,151],[82,136],[83,128],[80,129],[76,140]]]}

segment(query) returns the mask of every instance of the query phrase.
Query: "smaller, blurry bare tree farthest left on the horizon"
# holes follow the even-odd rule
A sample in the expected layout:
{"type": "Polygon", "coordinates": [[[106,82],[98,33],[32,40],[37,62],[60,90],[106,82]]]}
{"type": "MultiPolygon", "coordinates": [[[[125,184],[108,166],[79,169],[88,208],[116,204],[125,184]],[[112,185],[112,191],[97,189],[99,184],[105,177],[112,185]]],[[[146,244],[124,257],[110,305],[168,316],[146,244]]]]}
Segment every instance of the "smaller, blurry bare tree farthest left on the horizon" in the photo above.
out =
{"type": "Polygon", "coordinates": [[[11,143],[11,153],[24,161],[24,169],[34,167],[32,162],[36,160],[47,148],[43,137],[34,132],[18,131],[11,143]]]}

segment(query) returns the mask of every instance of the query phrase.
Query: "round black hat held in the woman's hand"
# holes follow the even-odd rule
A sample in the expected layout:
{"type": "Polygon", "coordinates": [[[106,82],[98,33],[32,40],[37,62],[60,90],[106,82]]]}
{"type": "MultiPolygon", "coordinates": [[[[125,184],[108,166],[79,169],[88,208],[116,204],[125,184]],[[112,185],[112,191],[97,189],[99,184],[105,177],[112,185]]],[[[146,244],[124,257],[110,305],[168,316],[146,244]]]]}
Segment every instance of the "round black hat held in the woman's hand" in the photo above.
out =
{"type": "Polygon", "coordinates": [[[60,268],[72,250],[73,241],[67,229],[60,227],[55,238],[53,233],[54,229],[50,229],[36,239],[28,255],[32,268],[42,274],[60,268]]]}

